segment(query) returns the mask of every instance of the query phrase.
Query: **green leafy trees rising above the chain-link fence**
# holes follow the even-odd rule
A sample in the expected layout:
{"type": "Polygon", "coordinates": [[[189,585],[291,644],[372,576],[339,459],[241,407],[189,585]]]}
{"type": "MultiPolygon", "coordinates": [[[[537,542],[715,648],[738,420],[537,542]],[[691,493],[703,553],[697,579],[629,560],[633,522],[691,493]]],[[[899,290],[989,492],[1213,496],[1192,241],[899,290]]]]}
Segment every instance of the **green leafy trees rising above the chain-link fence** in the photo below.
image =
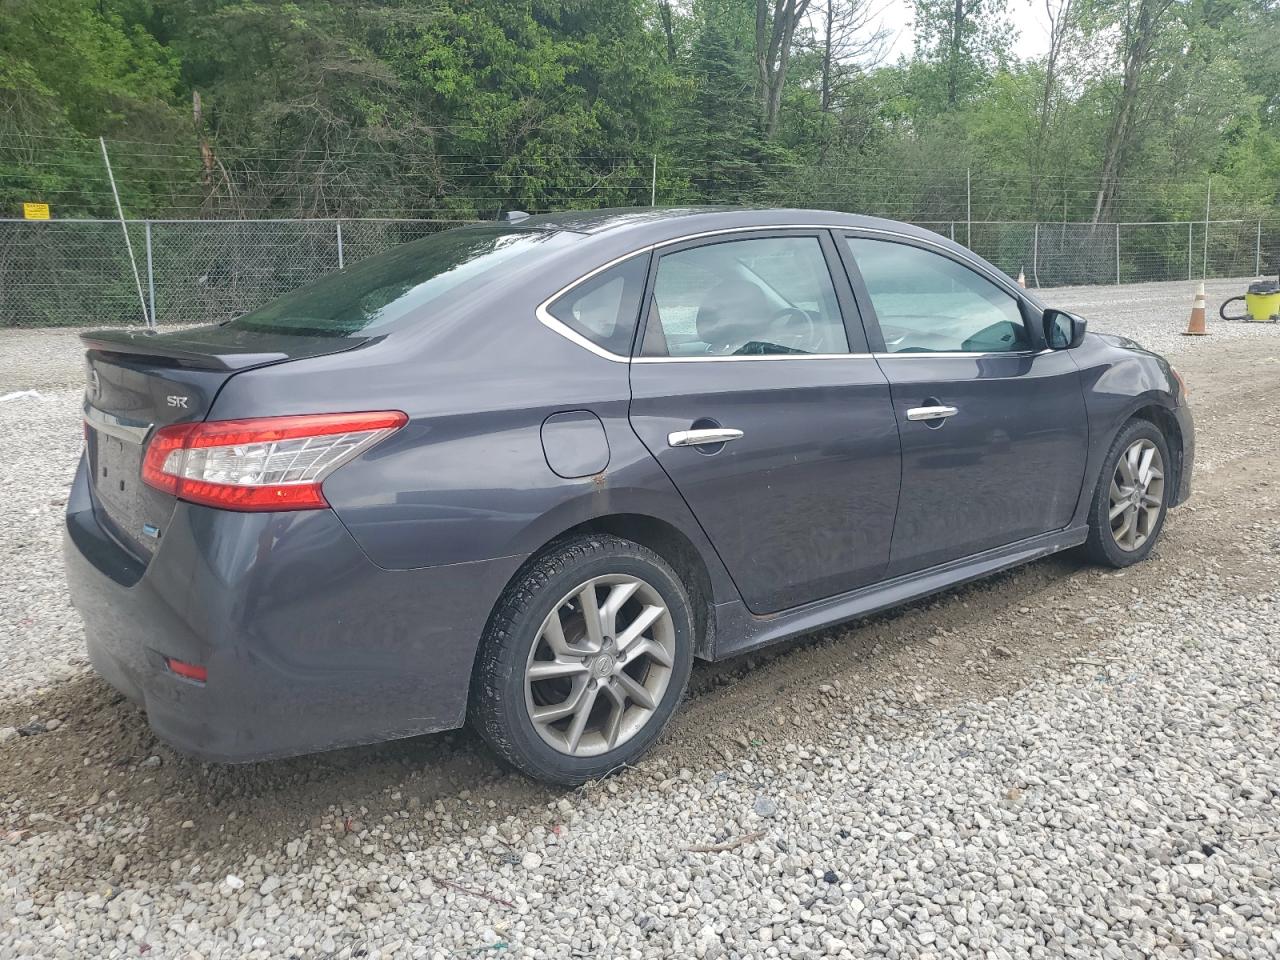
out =
{"type": "Polygon", "coordinates": [[[1075,0],[1052,65],[1006,1],[918,0],[915,55],[836,58],[829,104],[805,26],[767,136],[741,0],[0,0],[0,215],[111,215],[105,136],[138,216],[644,204],[657,155],[659,202],[1078,220],[1125,97],[1108,215],[1202,215],[1210,177],[1217,215],[1274,207],[1275,0],[1172,0],[1128,92],[1126,24],[1162,0],[1075,0]]]}

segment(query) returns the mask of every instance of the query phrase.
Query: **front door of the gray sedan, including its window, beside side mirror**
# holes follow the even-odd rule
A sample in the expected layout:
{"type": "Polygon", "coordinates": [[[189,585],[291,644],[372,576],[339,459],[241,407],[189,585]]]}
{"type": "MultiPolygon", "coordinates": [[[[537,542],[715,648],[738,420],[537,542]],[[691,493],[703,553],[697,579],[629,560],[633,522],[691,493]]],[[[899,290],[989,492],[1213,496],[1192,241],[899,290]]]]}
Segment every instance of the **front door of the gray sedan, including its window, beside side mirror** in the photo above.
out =
{"type": "Polygon", "coordinates": [[[850,279],[902,438],[887,576],[1065,527],[1088,447],[1070,351],[1039,311],[963,253],[847,232],[850,279]]]}

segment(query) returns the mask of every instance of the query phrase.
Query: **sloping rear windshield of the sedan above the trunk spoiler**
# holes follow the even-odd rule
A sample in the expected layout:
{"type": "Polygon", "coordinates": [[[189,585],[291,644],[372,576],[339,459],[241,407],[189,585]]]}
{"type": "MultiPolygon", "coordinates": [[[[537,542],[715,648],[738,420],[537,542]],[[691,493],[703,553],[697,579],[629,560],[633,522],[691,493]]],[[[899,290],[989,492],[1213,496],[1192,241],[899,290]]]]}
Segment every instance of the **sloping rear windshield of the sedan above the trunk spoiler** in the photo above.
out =
{"type": "Polygon", "coordinates": [[[351,337],[384,330],[407,314],[573,242],[563,230],[515,230],[498,224],[424,237],[316,280],[229,326],[298,337],[351,337]]]}

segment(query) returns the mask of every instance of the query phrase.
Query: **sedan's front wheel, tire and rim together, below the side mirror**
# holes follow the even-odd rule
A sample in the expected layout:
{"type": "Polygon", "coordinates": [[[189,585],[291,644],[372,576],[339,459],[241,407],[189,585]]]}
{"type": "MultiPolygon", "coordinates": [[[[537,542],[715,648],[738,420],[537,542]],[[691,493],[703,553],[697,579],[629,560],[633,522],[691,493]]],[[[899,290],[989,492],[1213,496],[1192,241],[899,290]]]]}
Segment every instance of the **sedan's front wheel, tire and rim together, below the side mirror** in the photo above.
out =
{"type": "Polygon", "coordinates": [[[1148,420],[1130,420],[1120,429],[1102,462],[1102,474],[1089,507],[1089,539],[1085,541],[1089,559],[1108,567],[1129,567],[1147,559],[1165,529],[1169,500],[1175,489],[1172,470],[1169,443],[1160,428],[1148,420]],[[1135,449],[1138,454],[1134,458],[1135,449]],[[1143,481],[1140,465],[1148,451],[1155,453],[1143,481]],[[1121,461],[1125,461],[1124,467],[1121,461]],[[1134,462],[1139,465],[1137,471],[1134,462]],[[1125,468],[1137,477],[1137,484],[1128,483],[1125,468]],[[1112,480],[1121,499],[1130,503],[1114,520],[1111,512],[1119,504],[1112,480]]]}

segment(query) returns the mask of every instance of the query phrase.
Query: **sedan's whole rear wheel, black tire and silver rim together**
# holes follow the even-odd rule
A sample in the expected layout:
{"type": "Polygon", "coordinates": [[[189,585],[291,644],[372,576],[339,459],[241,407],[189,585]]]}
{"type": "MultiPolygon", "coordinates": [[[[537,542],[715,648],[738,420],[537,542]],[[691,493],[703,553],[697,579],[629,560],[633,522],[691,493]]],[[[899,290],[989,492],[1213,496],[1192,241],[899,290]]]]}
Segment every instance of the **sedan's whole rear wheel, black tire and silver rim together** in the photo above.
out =
{"type": "Polygon", "coordinates": [[[516,769],[575,786],[653,745],[692,660],[692,607],[667,562],[617,536],[577,536],[535,558],[498,602],[470,721],[516,769]]]}

